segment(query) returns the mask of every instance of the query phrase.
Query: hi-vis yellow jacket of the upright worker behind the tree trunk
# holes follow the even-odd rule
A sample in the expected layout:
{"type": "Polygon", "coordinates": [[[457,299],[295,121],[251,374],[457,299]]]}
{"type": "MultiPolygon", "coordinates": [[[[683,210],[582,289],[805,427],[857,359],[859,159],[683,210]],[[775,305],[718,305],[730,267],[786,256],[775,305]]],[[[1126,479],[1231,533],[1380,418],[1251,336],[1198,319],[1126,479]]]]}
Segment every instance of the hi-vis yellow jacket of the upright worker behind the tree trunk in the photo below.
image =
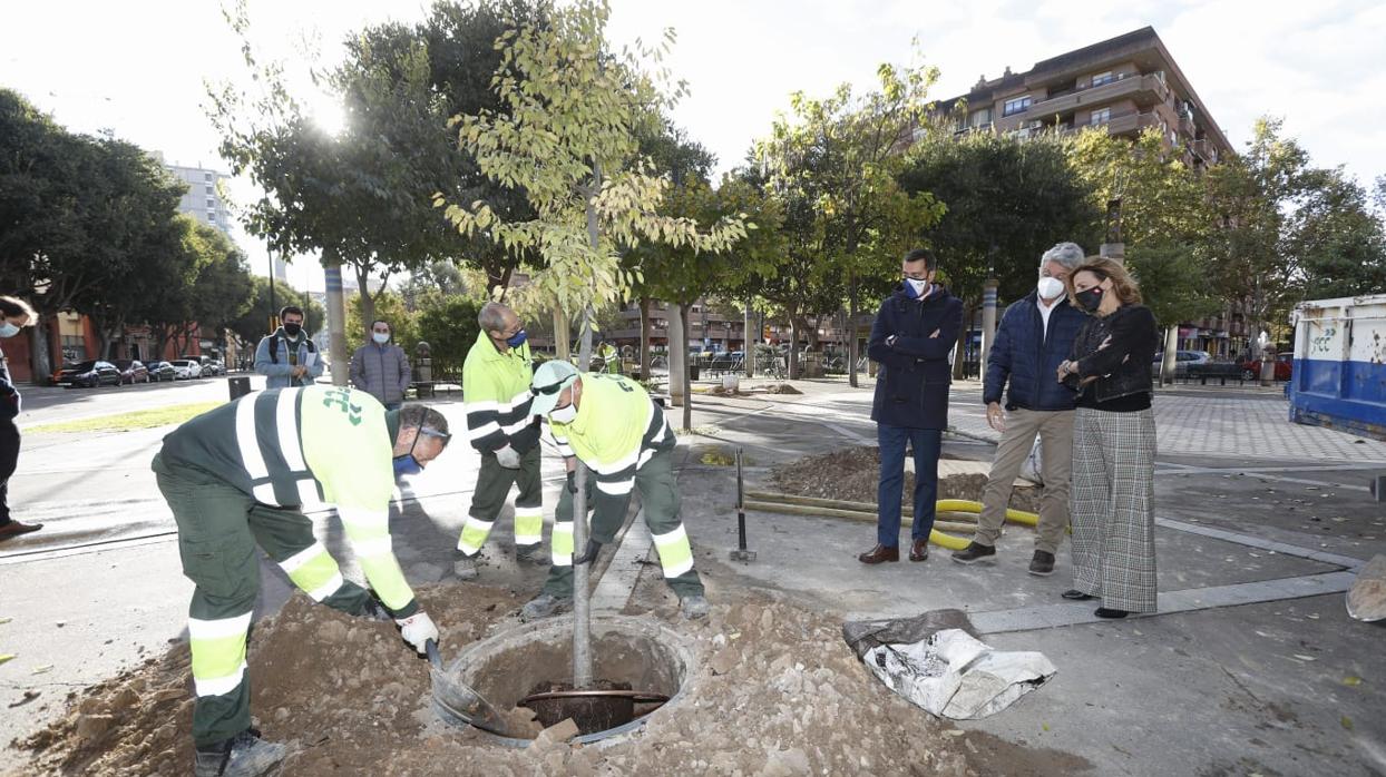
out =
{"type": "Polygon", "coordinates": [[[500,353],[486,332],[477,335],[462,364],[462,409],[473,447],[493,453],[509,445],[524,453],[539,443],[539,421],[529,414],[531,379],[529,343],[500,353]]]}

